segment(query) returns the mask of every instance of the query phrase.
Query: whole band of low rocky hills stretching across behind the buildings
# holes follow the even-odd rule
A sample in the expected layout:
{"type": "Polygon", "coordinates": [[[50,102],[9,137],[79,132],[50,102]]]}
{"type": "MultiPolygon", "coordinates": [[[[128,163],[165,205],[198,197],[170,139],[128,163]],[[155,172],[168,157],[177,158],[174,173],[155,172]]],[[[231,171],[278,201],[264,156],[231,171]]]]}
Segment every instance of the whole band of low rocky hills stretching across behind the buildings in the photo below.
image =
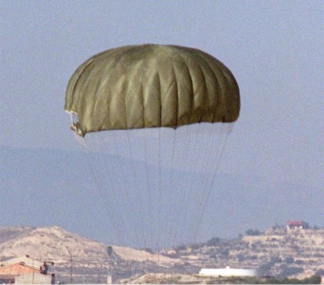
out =
{"type": "MultiPolygon", "coordinates": [[[[111,258],[115,282],[146,273],[197,274],[202,267],[258,269],[263,275],[304,278],[324,275],[324,229],[268,229],[240,238],[213,238],[207,243],[179,246],[159,256],[147,251],[113,247],[111,258]]],[[[72,259],[74,282],[105,282],[106,245],[59,227],[0,228],[0,258],[24,255],[53,261],[57,280],[67,282],[72,259]]],[[[182,277],[183,278],[183,277],[182,277]]],[[[323,278],[324,279],[324,278],[323,278]]]]}

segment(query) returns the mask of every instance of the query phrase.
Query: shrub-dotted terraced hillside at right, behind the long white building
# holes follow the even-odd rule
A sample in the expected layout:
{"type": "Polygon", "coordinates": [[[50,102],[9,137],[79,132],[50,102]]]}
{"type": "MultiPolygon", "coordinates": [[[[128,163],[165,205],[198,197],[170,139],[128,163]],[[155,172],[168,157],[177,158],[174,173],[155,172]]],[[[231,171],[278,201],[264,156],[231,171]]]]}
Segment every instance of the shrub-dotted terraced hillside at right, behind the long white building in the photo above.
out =
{"type": "Polygon", "coordinates": [[[324,275],[324,229],[276,227],[232,240],[214,238],[209,246],[177,247],[164,254],[186,260],[196,267],[229,265],[258,269],[262,275],[280,277],[324,275]]]}

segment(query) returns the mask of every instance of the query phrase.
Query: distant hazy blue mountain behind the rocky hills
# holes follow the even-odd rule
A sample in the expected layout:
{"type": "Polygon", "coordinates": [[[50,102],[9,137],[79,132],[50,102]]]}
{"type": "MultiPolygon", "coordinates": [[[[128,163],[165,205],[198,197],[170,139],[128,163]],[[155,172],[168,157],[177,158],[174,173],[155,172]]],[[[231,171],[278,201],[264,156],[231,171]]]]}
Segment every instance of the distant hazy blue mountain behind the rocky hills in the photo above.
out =
{"type": "MultiPolygon", "coordinates": [[[[97,240],[110,238],[110,218],[83,152],[2,146],[0,174],[0,226],[58,225],[97,240]]],[[[203,175],[193,176],[192,183],[199,179],[203,175]]],[[[263,230],[287,219],[323,225],[323,200],[322,189],[307,185],[221,173],[198,241],[263,230]]]]}

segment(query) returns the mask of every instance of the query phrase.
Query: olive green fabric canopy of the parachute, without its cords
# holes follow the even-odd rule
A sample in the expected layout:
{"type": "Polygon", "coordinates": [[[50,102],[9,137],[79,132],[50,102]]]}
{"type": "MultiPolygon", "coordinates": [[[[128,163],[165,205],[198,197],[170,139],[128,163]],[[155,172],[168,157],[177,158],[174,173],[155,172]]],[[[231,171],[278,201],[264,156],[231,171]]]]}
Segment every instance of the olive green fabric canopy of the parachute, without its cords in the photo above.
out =
{"type": "Polygon", "coordinates": [[[102,52],[70,78],[65,110],[81,135],[102,130],[172,127],[238,118],[231,71],[197,49],[141,45],[102,52]]]}

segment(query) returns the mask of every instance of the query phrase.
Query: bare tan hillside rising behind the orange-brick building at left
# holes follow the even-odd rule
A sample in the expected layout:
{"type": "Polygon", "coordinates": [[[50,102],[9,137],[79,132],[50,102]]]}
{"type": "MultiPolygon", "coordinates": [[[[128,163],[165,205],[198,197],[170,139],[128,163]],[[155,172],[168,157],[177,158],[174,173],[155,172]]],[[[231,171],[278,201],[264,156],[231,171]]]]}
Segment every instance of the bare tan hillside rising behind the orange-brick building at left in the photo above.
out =
{"type": "MultiPolygon", "coordinates": [[[[134,250],[126,247],[113,247],[111,257],[112,275],[115,280],[134,274],[166,272],[169,268],[181,266],[184,262],[134,250]]],[[[72,270],[74,282],[98,282],[106,279],[108,259],[106,245],[80,235],[67,232],[59,227],[1,227],[0,258],[3,262],[13,257],[30,255],[37,260],[53,261],[57,280],[67,282],[72,270]]]]}

